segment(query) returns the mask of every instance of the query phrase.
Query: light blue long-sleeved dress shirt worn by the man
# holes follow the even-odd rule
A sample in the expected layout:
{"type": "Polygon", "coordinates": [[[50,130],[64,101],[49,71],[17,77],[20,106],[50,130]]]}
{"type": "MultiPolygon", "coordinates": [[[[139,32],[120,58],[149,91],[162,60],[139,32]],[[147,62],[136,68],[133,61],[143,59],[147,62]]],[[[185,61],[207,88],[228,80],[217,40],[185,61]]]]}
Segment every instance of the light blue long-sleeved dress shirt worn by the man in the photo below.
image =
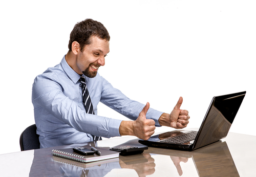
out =
{"type": "MultiPolygon", "coordinates": [[[[131,100],[97,74],[86,78],[95,115],[86,114],[78,75],[65,56],[53,68],[38,75],[32,87],[32,103],[40,148],[93,141],[92,135],[105,138],[120,136],[122,120],[97,116],[99,102],[125,117],[136,120],[144,104],[131,100]]],[[[162,112],[150,108],[147,119],[158,119],[162,112]]]]}

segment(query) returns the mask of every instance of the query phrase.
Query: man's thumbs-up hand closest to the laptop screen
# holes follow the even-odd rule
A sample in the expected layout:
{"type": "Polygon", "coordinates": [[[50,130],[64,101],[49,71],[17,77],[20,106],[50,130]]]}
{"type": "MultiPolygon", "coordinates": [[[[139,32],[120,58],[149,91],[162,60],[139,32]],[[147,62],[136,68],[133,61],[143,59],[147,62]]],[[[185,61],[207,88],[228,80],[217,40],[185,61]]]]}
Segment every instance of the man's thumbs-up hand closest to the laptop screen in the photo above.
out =
{"type": "Polygon", "coordinates": [[[180,106],[183,102],[183,98],[180,97],[176,106],[174,107],[172,113],[166,114],[163,113],[159,118],[159,124],[162,126],[170,126],[173,128],[181,129],[185,128],[188,124],[188,111],[180,109],[180,106]]]}

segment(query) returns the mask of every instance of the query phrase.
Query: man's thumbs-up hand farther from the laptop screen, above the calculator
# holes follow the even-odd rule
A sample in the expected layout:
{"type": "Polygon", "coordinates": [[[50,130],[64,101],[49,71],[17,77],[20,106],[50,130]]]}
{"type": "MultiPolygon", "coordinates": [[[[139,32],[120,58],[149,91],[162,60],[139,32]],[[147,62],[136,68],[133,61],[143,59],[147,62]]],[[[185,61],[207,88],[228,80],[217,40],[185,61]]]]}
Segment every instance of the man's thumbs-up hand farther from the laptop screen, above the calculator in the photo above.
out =
{"type": "Polygon", "coordinates": [[[146,119],[146,113],[149,108],[150,103],[147,102],[136,121],[122,121],[119,127],[120,135],[132,135],[143,140],[148,140],[156,129],[155,121],[146,119]]]}

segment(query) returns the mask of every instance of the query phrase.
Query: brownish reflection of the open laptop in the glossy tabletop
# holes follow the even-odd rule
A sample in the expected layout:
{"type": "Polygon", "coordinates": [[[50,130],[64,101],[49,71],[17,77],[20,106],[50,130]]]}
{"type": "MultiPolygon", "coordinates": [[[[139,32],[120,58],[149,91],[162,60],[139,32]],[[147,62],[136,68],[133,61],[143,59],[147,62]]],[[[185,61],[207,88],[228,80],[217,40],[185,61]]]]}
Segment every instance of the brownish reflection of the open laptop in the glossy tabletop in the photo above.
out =
{"type": "MultiPolygon", "coordinates": [[[[200,148],[195,152],[166,149],[159,151],[158,154],[170,156],[174,164],[180,165],[184,176],[239,176],[237,167],[225,141],[222,142],[220,140],[216,143],[209,144],[207,147],[200,148]],[[179,163],[181,159],[184,163],[179,163]],[[194,164],[193,162],[191,163],[191,160],[194,164]],[[195,174],[194,168],[196,168],[198,175],[195,174]],[[193,174],[189,174],[190,172],[193,174]],[[186,175],[187,173],[189,175],[186,175]]],[[[155,158],[154,156],[152,157],[155,158]]],[[[169,164],[169,167],[171,168],[172,164],[169,164]]],[[[164,172],[162,171],[162,176],[165,176],[164,172]]],[[[172,174],[174,175],[175,173],[172,174]]]]}

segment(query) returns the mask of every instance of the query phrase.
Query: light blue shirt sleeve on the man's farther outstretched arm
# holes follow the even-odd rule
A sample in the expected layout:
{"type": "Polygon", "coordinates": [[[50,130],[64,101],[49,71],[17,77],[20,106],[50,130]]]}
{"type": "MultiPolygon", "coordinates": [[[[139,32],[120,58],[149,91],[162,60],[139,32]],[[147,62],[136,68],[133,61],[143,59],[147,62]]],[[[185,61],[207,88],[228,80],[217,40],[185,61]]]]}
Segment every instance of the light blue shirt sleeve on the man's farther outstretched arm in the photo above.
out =
{"type": "MultiPolygon", "coordinates": [[[[144,104],[127,98],[121,91],[115,89],[106,80],[103,81],[100,101],[131,120],[136,120],[145,106],[144,104]]],[[[163,112],[150,108],[147,111],[146,118],[153,119],[156,126],[161,126],[158,119],[162,114],[163,112]]]]}

